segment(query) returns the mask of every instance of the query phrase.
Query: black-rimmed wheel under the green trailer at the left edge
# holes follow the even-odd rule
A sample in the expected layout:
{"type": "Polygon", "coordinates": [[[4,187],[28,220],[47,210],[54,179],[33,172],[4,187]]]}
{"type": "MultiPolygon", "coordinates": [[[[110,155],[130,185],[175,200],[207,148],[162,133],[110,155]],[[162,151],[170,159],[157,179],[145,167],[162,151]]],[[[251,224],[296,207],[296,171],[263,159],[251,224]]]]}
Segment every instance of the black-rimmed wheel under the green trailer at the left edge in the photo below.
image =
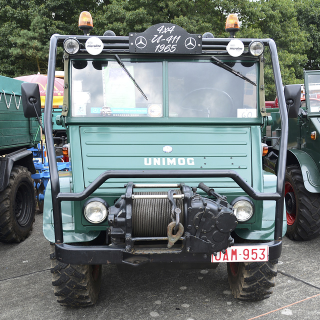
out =
{"type": "Polygon", "coordinates": [[[24,167],[12,167],[9,184],[0,194],[0,241],[23,241],[32,230],[35,192],[31,173],[24,167]]]}

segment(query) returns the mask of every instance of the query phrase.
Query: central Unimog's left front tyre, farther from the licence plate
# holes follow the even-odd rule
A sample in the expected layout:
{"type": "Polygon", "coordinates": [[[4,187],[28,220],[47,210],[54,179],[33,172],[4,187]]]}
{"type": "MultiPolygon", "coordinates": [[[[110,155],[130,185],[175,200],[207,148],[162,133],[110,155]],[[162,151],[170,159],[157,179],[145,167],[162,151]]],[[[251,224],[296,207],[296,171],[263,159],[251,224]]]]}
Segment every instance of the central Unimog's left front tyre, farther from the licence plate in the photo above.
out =
{"type": "Polygon", "coordinates": [[[100,291],[101,265],[58,262],[55,259],[54,245],[50,246],[50,271],[57,302],[69,307],[94,304],[100,291]]]}

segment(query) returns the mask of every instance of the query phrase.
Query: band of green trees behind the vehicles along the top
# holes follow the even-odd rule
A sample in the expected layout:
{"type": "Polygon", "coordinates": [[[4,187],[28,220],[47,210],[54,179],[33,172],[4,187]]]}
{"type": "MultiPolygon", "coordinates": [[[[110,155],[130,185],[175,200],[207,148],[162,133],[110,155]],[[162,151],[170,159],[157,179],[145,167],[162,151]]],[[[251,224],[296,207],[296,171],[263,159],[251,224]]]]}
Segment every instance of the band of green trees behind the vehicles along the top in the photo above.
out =
{"type": "MultiPolygon", "coordinates": [[[[238,13],[237,37],[273,38],[283,84],[302,82],[302,69],[320,66],[320,0],[0,0],[0,74],[46,72],[53,33],[81,34],[82,10],[92,14],[94,34],[142,32],[160,22],[180,25],[190,33],[227,37],[225,18],[238,13]]],[[[268,54],[265,55],[266,98],[275,95],[268,54]]],[[[61,66],[60,57],[56,61],[61,66]]]]}

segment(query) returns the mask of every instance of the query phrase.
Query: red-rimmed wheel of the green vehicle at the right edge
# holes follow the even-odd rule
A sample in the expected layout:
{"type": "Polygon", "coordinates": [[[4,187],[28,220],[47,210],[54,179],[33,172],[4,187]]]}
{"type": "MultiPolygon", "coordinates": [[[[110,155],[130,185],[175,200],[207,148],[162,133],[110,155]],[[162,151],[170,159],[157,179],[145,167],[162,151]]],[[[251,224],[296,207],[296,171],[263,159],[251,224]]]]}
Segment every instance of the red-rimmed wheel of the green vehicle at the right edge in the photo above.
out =
{"type": "Polygon", "coordinates": [[[284,200],[290,239],[309,240],[320,234],[320,194],[305,189],[297,164],[286,167],[284,200]]]}

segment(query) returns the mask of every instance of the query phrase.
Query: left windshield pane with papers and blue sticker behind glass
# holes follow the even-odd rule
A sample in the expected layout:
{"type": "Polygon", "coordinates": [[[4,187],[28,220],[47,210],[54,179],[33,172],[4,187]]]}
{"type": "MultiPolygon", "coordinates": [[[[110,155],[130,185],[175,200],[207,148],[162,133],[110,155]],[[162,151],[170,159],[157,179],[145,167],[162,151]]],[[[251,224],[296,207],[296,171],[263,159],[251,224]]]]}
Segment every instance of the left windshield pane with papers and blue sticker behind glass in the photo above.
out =
{"type": "Polygon", "coordinates": [[[72,61],[73,116],[161,116],[162,63],[125,62],[148,100],[115,61],[72,61]],[[156,104],[156,108],[152,106],[156,104]],[[154,114],[156,113],[156,114],[154,114]]]}

